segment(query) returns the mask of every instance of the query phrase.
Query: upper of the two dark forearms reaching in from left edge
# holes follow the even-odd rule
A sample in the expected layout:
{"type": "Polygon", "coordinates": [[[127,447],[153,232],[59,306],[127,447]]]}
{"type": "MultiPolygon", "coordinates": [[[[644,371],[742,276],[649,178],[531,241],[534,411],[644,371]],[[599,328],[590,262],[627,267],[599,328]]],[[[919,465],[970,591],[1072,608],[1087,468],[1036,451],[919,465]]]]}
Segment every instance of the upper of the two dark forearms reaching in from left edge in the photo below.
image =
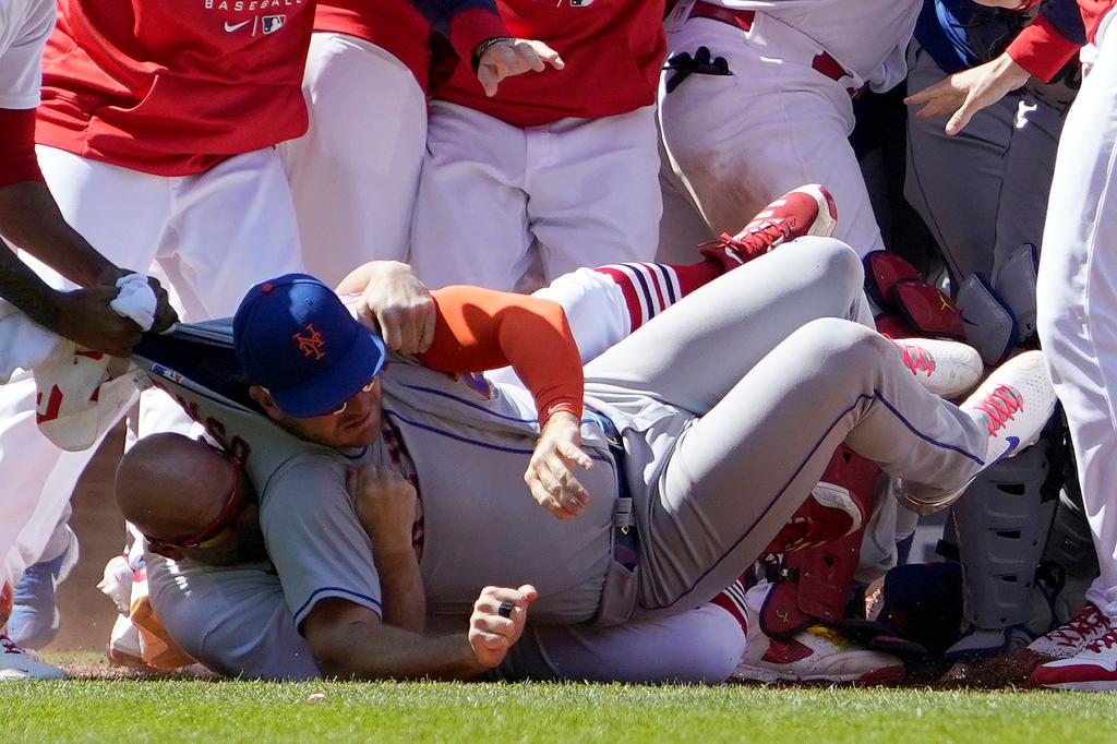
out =
{"type": "Polygon", "coordinates": [[[122,274],[66,223],[46,184],[37,181],[0,188],[0,233],[83,287],[122,274]]]}

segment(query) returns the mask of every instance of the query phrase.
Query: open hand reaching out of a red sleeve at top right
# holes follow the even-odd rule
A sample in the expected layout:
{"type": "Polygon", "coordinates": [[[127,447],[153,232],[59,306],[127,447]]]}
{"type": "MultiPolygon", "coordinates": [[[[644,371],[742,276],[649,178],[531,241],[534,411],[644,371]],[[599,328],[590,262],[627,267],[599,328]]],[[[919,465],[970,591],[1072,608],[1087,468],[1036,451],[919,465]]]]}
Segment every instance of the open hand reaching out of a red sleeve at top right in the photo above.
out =
{"type": "Polygon", "coordinates": [[[954,135],[970,123],[974,114],[1022,86],[1029,77],[1028,70],[1003,54],[993,61],[955,73],[908,96],[904,103],[923,106],[916,113],[918,118],[945,116],[953,112],[945,132],[954,135]]]}

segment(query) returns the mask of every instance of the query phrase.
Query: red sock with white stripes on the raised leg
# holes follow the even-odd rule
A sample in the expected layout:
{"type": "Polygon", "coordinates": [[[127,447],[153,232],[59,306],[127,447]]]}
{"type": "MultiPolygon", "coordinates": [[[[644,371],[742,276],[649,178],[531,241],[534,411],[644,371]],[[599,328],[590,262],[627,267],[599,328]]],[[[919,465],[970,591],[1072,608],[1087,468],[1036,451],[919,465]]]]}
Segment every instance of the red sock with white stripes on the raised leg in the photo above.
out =
{"type": "Polygon", "coordinates": [[[691,292],[725,274],[720,264],[609,264],[595,271],[621,288],[628,305],[630,331],[656,317],[691,292]]]}

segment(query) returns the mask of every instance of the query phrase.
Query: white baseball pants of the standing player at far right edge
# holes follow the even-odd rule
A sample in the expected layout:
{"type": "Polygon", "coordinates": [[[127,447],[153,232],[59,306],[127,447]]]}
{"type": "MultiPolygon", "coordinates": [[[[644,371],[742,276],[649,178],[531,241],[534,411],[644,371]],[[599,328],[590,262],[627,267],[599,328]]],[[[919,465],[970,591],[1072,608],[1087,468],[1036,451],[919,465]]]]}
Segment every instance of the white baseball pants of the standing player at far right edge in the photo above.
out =
{"type": "Polygon", "coordinates": [[[1040,341],[1070,426],[1101,569],[1086,599],[1109,618],[1117,618],[1115,16],[1098,29],[1095,64],[1063,125],[1037,290],[1040,341]]]}

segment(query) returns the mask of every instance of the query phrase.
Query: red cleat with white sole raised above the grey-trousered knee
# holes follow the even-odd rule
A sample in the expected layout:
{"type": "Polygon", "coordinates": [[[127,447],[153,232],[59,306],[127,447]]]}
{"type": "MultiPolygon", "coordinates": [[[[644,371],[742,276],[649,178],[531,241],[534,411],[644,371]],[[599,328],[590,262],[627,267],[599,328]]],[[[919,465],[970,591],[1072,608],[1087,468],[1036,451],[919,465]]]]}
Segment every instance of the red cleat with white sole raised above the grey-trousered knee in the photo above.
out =
{"type": "Polygon", "coordinates": [[[737,235],[723,232],[698,246],[703,256],[731,270],[796,238],[829,238],[838,225],[838,206],[825,187],[809,183],[762,209],[737,235]]]}

